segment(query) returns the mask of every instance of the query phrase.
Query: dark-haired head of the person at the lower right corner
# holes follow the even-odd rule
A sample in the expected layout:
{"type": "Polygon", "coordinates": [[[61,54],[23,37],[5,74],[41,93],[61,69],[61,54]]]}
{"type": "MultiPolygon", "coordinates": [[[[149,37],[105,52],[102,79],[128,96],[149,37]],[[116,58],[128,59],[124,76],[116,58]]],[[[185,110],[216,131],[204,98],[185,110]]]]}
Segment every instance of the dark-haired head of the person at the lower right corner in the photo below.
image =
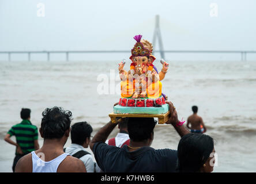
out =
{"type": "Polygon", "coordinates": [[[182,137],[178,145],[178,171],[199,172],[214,148],[212,137],[201,133],[189,133],[182,137]]]}

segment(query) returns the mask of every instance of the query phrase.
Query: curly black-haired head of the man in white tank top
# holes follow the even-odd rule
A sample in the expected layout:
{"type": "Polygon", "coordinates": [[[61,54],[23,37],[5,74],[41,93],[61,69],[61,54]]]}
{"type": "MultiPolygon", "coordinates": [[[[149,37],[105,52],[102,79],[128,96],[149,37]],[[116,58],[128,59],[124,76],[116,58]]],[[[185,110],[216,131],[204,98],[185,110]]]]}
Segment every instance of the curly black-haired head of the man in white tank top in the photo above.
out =
{"type": "Polygon", "coordinates": [[[44,139],[60,139],[70,128],[72,113],[69,110],[54,107],[42,113],[41,131],[44,139]]]}

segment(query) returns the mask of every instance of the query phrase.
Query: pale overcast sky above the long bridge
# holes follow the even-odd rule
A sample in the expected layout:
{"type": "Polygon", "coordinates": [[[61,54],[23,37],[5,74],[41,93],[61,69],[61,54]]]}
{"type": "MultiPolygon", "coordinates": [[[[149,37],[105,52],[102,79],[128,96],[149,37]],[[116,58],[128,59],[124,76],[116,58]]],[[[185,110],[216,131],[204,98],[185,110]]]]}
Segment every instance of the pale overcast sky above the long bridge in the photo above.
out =
{"type": "Polygon", "coordinates": [[[127,50],[135,34],[152,41],[156,14],[164,49],[256,50],[255,9],[253,0],[0,0],[0,51],[127,50]]]}

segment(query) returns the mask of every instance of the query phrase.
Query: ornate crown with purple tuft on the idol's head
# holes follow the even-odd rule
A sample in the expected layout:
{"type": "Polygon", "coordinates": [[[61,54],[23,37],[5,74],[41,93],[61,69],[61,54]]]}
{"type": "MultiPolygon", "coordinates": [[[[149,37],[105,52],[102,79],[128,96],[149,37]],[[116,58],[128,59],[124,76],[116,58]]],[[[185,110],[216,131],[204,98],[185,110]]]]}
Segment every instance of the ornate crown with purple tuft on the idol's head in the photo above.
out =
{"type": "Polygon", "coordinates": [[[137,43],[135,43],[133,49],[131,49],[131,55],[132,56],[148,56],[150,55],[150,51],[149,49],[146,49],[143,47],[143,44],[141,43],[141,38],[142,35],[138,34],[136,36],[133,37],[134,40],[137,41],[137,43]]]}

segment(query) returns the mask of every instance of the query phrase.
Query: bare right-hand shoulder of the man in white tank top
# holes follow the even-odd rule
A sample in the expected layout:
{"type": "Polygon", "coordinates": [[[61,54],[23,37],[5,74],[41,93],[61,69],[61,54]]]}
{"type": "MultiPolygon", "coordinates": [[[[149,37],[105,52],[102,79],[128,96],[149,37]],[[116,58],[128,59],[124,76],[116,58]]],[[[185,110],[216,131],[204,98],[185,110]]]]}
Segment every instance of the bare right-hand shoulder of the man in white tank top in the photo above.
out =
{"type": "Polygon", "coordinates": [[[61,164],[59,164],[58,171],[61,173],[85,173],[86,168],[82,160],[67,156],[61,164]]]}

